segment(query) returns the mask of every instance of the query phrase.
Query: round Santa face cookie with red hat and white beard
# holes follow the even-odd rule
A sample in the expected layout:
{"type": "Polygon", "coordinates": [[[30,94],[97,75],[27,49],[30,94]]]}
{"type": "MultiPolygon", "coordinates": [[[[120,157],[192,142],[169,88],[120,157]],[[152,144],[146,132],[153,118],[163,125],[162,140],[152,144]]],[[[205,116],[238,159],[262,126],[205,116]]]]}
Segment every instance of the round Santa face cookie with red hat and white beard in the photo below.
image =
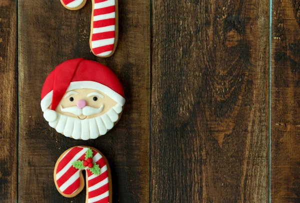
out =
{"type": "Polygon", "coordinates": [[[41,109],[49,125],[64,136],[94,139],[120,118],[124,93],[106,66],[75,58],[55,67],[41,90],[41,109]]]}

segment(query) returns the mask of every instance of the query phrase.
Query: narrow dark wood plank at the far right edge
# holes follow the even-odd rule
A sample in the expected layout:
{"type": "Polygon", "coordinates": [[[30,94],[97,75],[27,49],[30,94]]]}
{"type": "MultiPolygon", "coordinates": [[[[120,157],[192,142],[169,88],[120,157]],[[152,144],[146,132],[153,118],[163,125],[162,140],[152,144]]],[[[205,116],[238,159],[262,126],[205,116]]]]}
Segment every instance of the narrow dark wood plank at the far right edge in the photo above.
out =
{"type": "Polygon", "coordinates": [[[271,200],[300,202],[300,0],[272,9],[271,200]]]}

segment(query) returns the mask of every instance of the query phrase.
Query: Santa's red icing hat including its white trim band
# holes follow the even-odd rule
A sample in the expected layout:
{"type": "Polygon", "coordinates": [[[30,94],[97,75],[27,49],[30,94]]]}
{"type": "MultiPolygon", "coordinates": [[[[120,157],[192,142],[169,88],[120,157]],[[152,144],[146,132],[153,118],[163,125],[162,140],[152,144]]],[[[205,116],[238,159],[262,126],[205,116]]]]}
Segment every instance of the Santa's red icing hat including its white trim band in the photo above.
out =
{"type": "Polygon", "coordinates": [[[116,75],[105,65],[83,58],[66,60],[47,76],[41,89],[40,106],[45,111],[51,104],[55,110],[66,91],[80,88],[99,90],[121,106],[124,92],[116,75]]]}

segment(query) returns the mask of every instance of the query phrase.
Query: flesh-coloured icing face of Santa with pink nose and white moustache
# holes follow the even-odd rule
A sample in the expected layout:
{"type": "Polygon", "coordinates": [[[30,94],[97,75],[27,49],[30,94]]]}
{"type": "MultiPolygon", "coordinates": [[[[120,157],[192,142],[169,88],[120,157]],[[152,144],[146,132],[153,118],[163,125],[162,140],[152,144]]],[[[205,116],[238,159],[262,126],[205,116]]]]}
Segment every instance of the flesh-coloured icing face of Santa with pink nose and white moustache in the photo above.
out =
{"type": "Polygon", "coordinates": [[[117,103],[96,89],[73,89],[65,92],[55,111],[79,119],[94,118],[106,113],[117,103]]]}

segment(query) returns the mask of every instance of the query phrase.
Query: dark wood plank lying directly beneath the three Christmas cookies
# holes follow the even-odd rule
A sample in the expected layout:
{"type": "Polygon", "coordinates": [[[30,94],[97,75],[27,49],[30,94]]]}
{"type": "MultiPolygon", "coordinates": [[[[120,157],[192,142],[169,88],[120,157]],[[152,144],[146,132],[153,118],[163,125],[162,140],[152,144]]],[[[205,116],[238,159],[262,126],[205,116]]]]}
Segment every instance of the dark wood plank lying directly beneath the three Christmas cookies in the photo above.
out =
{"type": "Polygon", "coordinates": [[[108,159],[113,202],[149,201],[149,1],[119,1],[119,41],[109,58],[89,50],[91,1],[77,11],[59,0],[21,0],[19,12],[19,198],[20,202],[83,202],[85,191],[65,198],[53,181],[59,155],[89,145],[108,159]],[[126,103],[120,121],[95,140],[73,140],[55,132],[42,117],[40,90],[47,74],[74,57],[110,67],[123,84],[126,103]]]}

